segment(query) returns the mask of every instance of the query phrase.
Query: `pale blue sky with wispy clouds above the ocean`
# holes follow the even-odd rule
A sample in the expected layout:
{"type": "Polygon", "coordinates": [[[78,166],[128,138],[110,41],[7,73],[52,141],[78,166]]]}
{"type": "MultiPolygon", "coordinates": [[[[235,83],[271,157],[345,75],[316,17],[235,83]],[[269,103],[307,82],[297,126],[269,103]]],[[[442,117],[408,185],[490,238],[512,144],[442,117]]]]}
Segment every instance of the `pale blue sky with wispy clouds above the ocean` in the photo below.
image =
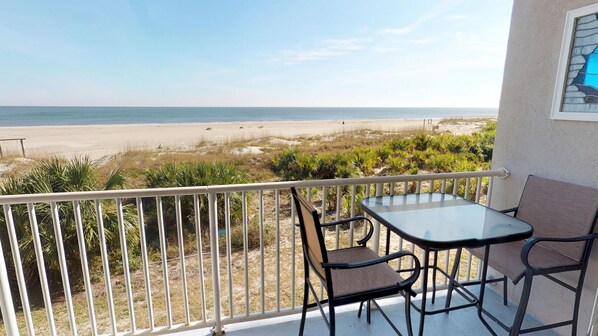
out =
{"type": "Polygon", "coordinates": [[[0,0],[0,106],[497,107],[512,0],[0,0]]]}

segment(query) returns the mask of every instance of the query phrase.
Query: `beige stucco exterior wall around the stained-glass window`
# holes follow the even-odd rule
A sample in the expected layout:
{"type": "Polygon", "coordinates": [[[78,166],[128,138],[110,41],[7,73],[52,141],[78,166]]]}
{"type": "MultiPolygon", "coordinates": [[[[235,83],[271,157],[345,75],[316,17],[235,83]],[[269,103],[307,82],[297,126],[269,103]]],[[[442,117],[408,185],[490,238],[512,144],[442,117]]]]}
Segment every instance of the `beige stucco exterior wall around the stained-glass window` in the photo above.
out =
{"type": "MultiPolygon", "coordinates": [[[[598,122],[550,119],[565,15],[596,2],[514,1],[493,158],[493,166],[506,167],[511,176],[495,181],[492,207],[516,206],[528,174],[598,188],[598,122]]],[[[586,277],[579,335],[588,330],[598,285],[597,246],[586,277]]],[[[511,291],[513,299],[520,290],[511,291]]],[[[547,322],[569,319],[572,297],[539,279],[528,311],[547,322]]],[[[569,330],[560,332],[568,335],[569,330]]]]}

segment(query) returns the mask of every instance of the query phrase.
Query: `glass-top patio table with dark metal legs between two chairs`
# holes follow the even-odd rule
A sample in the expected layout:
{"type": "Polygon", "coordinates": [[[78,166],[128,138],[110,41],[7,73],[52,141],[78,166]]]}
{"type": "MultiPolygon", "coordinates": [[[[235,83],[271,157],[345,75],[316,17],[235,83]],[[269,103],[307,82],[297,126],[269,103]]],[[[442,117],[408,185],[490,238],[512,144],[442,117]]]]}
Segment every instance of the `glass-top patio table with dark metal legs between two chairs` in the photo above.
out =
{"type": "MultiPolygon", "coordinates": [[[[361,201],[361,207],[367,214],[388,228],[386,237],[387,252],[391,232],[424,250],[422,301],[421,307],[419,309],[416,307],[421,313],[419,335],[423,335],[426,315],[473,306],[478,308],[478,316],[494,334],[482,316],[488,271],[486,265],[490,245],[529,238],[534,230],[531,225],[499,211],[450,194],[426,193],[369,197],[361,201]],[[485,247],[485,260],[478,297],[465,287],[460,286],[453,279],[453,276],[436,267],[436,258],[434,258],[434,264],[430,265],[430,252],[435,253],[437,256],[436,253],[439,250],[476,247],[485,247]],[[434,272],[438,270],[446,276],[449,279],[450,286],[454,286],[456,292],[461,294],[467,300],[467,303],[433,311],[426,310],[427,270],[430,268],[434,269],[434,272]]],[[[456,263],[455,266],[457,266],[456,263]]],[[[455,271],[456,267],[451,273],[454,275],[455,271]]],[[[433,285],[435,288],[435,284],[433,285]]]]}

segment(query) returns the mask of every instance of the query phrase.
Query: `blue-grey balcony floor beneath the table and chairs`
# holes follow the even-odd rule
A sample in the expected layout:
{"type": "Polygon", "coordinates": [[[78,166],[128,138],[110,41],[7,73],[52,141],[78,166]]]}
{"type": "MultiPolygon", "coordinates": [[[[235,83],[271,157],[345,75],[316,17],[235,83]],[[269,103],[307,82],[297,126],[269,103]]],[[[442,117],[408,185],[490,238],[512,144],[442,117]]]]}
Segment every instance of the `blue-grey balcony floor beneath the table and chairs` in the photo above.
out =
{"type": "MultiPolygon", "coordinates": [[[[502,321],[512,321],[515,316],[516,306],[509,303],[508,306],[502,304],[502,298],[493,291],[487,291],[484,307],[492,311],[502,321]]],[[[436,304],[433,307],[444,306],[444,295],[442,291],[437,296],[436,304]]],[[[384,312],[395,321],[397,328],[403,334],[407,334],[405,327],[405,315],[403,308],[403,298],[388,298],[379,300],[379,304],[384,309],[384,312]]],[[[419,297],[415,302],[419,304],[419,297]]],[[[457,303],[457,302],[456,302],[457,303]]],[[[372,311],[372,324],[369,325],[365,319],[365,314],[360,319],[357,318],[357,309],[359,305],[347,305],[337,308],[337,335],[393,335],[394,332],[386,323],[384,317],[377,312],[372,311]]],[[[413,331],[417,333],[419,325],[419,314],[411,311],[413,319],[413,331]]],[[[263,320],[241,322],[235,324],[228,324],[225,326],[226,335],[233,336],[286,336],[297,335],[299,332],[299,322],[301,314],[293,314],[288,316],[274,317],[263,320]]],[[[507,333],[500,327],[491,323],[492,327],[498,335],[507,335],[507,333]]],[[[540,323],[532,317],[526,317],[524,327],[538,326],[540,323]]],[[[425,335],[462,335],[462,336],[482,336],[490,335],[490,332],[484,327],[478,319],[477,310],[475,308],[467,308],[453,311],[450,314],[437,314],[426,316],[425,335]]],[[[569,332],[569,328],[565,332],[569,332]]],[[[186,331],[177,333],[177,336],[191,336],[191,335],[209,335],[209,330],[201,329],[200,331],[186,331]]],[[[314,310],[308,312],[305,322],[305,336],[312,335],[327,335],[328,329],[324,323],[320,312],[314,310]]],[[[538,336],[553,336],[558,335],[553,331],[543,331],[534,333],[538,336]]]]}

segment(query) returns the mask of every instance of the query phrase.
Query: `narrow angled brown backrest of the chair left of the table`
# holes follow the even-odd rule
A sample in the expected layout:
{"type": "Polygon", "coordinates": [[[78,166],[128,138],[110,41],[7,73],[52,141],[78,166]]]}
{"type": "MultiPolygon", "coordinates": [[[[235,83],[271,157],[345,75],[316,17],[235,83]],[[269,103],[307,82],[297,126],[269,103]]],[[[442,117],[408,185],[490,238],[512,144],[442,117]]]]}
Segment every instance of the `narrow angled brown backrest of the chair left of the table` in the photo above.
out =
{"type": "Polygon", "coordinates": [[[293,187],[291,188],[295,207],[299,217],[299,226],[301,228],[301,242],[303,244],[303,254],[312,265],[314,271],[318,274],[324,283],[326,283],[326,272],[322,267],[323,262],[328,262],[324,237],[320,228],[320,219],[316,208],[303,197],[293,187]]]}

